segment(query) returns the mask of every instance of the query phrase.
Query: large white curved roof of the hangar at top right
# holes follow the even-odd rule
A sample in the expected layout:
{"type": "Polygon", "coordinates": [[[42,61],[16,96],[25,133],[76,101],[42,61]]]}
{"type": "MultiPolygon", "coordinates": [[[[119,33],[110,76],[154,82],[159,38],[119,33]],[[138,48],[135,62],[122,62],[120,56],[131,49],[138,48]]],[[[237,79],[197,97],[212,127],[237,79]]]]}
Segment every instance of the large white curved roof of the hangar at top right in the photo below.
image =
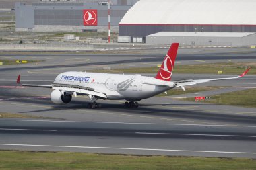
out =
{"type": "Polygon", "coordinates": [[[256,25],[255,0],[140,0],[119,24],[256,25]]]}

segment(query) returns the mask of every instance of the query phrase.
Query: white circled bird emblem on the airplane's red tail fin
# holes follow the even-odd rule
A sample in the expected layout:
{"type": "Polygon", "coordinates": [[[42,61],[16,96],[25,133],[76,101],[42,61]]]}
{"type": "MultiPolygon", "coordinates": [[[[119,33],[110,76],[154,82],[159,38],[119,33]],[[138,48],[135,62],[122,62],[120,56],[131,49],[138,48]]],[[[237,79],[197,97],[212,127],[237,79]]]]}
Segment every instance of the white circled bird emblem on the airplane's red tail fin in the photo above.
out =
{"type": "Polygon", "coordinates": [[[170,56],[166,55],[166,57],[164,58],[164,62],[159,70],[162,79],[165,79],[165,80],[170,79],[170,77],[172,76],[172,69],[173,69],[172,60],[170,59],[170,56]]]}

